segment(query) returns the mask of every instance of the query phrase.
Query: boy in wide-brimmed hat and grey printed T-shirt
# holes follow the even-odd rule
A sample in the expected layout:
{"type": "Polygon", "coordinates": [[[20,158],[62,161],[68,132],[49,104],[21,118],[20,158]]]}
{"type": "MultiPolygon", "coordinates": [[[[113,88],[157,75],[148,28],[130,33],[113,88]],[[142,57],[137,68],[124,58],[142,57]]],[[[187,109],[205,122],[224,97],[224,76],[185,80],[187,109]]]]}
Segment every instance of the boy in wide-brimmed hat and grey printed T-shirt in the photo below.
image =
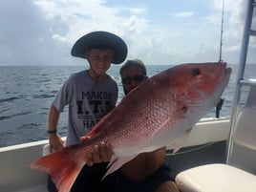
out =
{"type": "MultiPolygon", "coordinates": [[[[57,134],[57,122],[66,105],[69,105],[66,146],[79,143],[80,138],[116,106],[117,82],[106,72],[111,63],[123,62],[127,55],[127,46],[116,34],[90,32],[75,42],[72,55],[87,59],[90,68],[71,75],[53,100],[48,125],[51,152],[64,147],[63,140],[57,134]]],[[[106,145],[102,143],[101,147],[106,145]]],[[[72,187],[72,192],[99,190],[105,171],[106,163],[97,163],[92,167],[85,165],[72,187]]],[[[51,192],[56,191],[51,179],[48,189],[51,192]]]]}

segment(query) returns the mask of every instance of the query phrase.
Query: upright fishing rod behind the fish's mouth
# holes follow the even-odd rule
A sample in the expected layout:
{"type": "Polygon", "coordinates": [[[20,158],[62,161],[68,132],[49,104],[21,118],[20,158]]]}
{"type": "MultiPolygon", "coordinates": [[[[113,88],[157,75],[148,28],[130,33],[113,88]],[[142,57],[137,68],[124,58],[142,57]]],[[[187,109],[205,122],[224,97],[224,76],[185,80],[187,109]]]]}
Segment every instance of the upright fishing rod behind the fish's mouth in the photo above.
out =
{"type": "MultiPolygon", "coordinates": [[[[219,62],[223,62],[222,54],[223,54],[223,34],[224,34],[224,0],[223,0],[223,11],[222,11],[222,27],[221,27],[221,41],[220,41],[220,57],[219,62]]],[[[220,98],[220,101],[218,102],[216,106],[216,112],[215,117],[220,117],[220,111],[222,110],[224,104],[224,98],[220,98]]]]}

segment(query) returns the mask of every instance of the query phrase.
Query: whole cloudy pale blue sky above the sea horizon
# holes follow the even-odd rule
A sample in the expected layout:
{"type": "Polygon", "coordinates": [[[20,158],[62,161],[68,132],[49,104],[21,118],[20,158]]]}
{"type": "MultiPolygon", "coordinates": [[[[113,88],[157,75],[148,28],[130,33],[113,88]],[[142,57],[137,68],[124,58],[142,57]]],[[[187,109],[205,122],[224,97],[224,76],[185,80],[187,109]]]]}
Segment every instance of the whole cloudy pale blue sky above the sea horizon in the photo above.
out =
{"type": "MultiPolygon", "coordinates": [[[[239,62],[245,0],[224,0],[222,59],[239,62]]],[[[0,66],[84,65],[75,41],[108,31],[148,65],[219,60],[223,0],[1,0],[0,66]]],[[[254,25],[256,26],[256,25],[254,25]]],[[[247,62],[256,61],[256,39],[247,62]]]]}

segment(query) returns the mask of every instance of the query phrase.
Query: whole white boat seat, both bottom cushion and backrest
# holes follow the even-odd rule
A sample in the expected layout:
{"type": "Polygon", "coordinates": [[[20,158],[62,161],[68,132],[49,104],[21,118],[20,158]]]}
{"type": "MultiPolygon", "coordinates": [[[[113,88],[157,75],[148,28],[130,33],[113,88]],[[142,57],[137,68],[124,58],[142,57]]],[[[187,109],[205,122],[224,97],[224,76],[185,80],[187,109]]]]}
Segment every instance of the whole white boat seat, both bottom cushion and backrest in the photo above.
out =
{"type": "Polygon", "coordinates": [[[175,179],[181,192],[255,192],[255,125],[256,106],[245,106],[237,118],[228,164],[206,164],[182,171],[175,179]]]}

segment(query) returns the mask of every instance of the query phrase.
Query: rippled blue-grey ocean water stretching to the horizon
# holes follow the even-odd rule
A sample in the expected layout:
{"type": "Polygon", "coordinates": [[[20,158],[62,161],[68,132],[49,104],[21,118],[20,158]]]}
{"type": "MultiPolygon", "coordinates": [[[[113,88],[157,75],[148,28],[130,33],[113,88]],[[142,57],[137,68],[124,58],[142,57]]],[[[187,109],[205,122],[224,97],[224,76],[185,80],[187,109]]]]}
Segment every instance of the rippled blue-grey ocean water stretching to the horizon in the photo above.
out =
{"type": "MultiPolygon", "coordinates": [[[[170,65],[148,65],[148,75],[156,75],[170,65]]],[[[233,70],[229,84],[224,91],[224,106],[221,117],[231,113],[235,92],[237,66],[233,70]]],[[[86,66],[9,66],[0,67],[0,147],[47,139],[49,107],[62,83],[72,73],[86,69],[86,66]]],[[[248,77],[256,71],[256,65],[249,65],[245,72],[248,77]]],[[[112,66],[108,74],[118,83],[118,101],[123,95],[119,77],[119,66],[112,66]]],[[[67,110],[59,118],[58,132],[66,136],[67,110]]],[[[215,117],[212,110],[206,117],[215,117]]]]}

